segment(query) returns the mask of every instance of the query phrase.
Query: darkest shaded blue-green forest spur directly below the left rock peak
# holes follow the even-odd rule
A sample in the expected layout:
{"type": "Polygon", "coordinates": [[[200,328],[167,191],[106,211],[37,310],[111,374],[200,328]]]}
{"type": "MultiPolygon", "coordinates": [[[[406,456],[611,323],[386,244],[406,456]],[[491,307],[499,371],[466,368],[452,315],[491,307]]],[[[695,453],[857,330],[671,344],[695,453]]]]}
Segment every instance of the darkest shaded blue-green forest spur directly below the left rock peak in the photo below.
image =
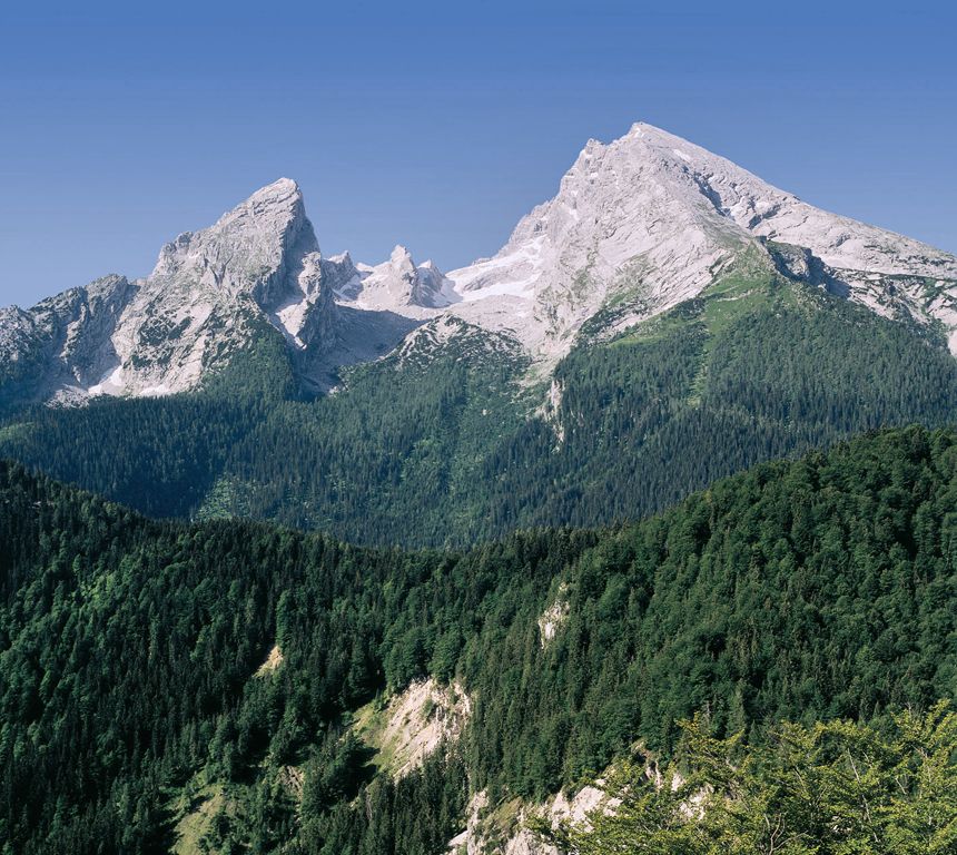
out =
{"type": "Polygon", "coordinates": [[[213,488],[230,449],[294,392],[282,335],[258,323],[266,328],[201,394],[36,407],[12,429],[10,451],[16,446],[14,455],[38,469],[151,517],[188,515],[213,488]]]}

